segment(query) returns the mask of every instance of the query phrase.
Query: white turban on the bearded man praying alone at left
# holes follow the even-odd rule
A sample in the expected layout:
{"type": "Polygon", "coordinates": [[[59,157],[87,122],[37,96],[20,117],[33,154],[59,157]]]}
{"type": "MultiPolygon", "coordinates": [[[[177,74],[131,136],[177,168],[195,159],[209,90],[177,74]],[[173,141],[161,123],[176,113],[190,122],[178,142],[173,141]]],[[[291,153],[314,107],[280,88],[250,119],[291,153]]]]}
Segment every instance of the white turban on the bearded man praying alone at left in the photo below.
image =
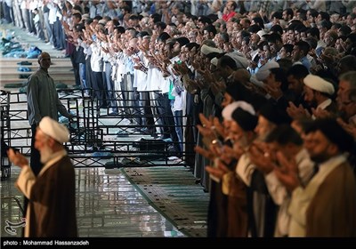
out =
{"type": "Polygon", "coordinates": [[[41,131],[60,143],[69,141],[69,130],[49,116],[44,116],[39,122],[41,131]]]}

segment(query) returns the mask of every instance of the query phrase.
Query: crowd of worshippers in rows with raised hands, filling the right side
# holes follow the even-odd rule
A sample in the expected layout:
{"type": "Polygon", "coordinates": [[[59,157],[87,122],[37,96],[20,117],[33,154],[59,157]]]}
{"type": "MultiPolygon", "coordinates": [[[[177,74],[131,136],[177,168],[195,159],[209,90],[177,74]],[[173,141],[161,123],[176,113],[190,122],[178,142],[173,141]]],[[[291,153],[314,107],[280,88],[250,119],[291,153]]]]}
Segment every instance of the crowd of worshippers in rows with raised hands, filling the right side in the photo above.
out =
{"type": "Polygon", "coordinates": [[[355,1],[76,3],[77,84],[193,155],[209,237],[356,236],[355,1]]]}

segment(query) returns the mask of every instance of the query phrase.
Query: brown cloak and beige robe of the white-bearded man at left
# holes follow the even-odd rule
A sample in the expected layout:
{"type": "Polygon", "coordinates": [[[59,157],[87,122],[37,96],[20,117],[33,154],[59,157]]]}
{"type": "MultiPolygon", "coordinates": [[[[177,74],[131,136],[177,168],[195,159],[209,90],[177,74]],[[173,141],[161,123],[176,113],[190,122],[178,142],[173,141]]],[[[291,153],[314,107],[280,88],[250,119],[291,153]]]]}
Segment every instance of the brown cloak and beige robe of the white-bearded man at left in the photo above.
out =
{"type": "Polygon", "coordinates": [[[54,153],[37,177],[23,167],[16,186],[28,197],[25,237],[77,237],[75,173],[65,150],[54,153]]]}

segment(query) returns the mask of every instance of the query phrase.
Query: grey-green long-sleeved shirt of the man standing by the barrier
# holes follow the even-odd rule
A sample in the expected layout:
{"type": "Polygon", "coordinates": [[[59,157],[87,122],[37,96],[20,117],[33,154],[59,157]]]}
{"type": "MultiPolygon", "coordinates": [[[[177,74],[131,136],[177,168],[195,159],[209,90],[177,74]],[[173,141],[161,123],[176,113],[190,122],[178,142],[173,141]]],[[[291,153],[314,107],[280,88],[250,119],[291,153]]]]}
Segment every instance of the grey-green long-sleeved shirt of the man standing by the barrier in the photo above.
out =
{"type": "Polygon", "coordinates": [[[44,116],[58,120],[58,112],[69,117],[69,112],[58,97],[53,78],[42,68],[28,78],[27,97],[30,125],[38,124],[44,116]]]}

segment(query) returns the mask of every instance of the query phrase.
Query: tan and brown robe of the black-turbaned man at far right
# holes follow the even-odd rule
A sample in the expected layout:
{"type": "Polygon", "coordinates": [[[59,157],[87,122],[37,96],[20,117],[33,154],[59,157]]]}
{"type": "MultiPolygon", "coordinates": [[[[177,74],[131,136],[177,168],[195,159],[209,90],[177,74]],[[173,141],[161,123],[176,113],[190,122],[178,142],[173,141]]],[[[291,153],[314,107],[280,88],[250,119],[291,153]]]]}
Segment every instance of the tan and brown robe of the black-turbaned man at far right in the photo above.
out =
{"type": "Polygon", "coordinates": [[[294,190],[288,212],[290,237],[355,236],[356,183],[346,157],[321,164],[305,189],[294,190]]]}

